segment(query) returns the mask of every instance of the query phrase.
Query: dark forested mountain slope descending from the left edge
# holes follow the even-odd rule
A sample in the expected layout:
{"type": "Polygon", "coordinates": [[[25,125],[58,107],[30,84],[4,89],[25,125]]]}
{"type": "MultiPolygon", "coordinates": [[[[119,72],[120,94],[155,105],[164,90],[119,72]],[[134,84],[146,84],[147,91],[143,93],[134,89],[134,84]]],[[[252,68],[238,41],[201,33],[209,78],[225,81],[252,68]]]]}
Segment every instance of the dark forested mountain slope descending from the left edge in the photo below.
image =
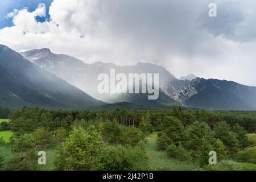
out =
{"type": "Polygon", "coordinates": [[[0,105],[79,108],[104,104],[0,45],[0,105]]]}

